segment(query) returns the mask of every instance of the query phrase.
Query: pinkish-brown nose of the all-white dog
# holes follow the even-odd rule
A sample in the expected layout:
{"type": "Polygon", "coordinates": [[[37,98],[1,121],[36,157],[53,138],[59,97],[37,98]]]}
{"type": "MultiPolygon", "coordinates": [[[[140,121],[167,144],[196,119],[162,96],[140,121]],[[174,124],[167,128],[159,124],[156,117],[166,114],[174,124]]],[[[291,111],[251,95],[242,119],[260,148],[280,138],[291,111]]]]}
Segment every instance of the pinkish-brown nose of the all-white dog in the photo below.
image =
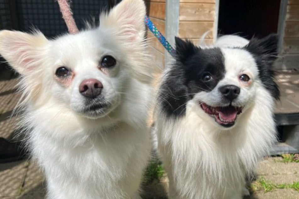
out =
{"type": "Polygon", "coordinates": [[[86,79],[79,85],[79,92],[89,98],[95,98],[101,94],[103,84],[97,79],[86,79]]]}

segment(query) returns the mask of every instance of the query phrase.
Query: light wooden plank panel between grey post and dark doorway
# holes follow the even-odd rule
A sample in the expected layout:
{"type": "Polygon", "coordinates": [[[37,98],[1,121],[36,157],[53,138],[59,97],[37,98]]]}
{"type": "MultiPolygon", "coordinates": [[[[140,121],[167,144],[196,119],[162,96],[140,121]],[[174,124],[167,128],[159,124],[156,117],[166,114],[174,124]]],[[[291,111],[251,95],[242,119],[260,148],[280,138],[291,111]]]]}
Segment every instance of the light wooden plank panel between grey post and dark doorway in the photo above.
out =
{"type": "Polygon", "coordinates": [[[215,0],[180,0],[179,36],[198,44],[208,30],[207,44],[213,43],[215,0]]]}

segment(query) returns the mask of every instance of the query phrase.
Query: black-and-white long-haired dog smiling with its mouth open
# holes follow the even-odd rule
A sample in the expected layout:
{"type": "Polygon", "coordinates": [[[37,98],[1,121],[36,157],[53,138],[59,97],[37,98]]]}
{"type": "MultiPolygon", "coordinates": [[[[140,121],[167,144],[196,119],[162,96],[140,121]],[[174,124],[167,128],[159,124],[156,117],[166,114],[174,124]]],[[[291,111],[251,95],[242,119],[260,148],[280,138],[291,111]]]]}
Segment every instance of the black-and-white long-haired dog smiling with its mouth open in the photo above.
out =
{"type": "Polygon", "coordinates": [[[158,149],[170,198],[233,199],[276,141],[277,36],[220,37],[197,47],[175,38],[155,111],[158,149]]]}

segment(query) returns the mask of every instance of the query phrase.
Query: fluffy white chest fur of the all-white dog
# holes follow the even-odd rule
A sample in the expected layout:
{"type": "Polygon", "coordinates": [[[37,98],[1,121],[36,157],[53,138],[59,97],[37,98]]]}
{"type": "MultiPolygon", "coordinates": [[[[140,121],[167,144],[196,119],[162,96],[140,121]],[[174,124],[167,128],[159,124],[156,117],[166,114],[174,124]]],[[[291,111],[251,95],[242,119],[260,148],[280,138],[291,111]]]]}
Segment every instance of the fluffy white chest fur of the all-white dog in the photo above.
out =
{"type": "MultiPolygon", "coordinates": [[[[47,114],[50,113],[43,113],[47,114]]],[[[48,126],[46,117],[36,112],[31,111],[26,117],[35,121],[30,124],[33,131],[28,140],[47,175],[49,198],[134,196],[149,159],[146,128],[116,122],[95,130],[75,118],[67,118],[67,123],[63,117],[52,119],[56,125],[48,126]],[[60,130],[69,136],[64,137],[60,130]]]]}

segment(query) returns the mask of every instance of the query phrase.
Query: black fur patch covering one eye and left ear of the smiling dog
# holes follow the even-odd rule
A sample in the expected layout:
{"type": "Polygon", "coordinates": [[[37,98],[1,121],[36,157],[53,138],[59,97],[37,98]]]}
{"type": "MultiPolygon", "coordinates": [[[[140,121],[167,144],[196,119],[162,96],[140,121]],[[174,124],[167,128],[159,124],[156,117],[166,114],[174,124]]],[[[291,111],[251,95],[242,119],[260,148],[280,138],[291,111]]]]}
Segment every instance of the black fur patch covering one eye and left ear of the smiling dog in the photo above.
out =
{"type": "Polygon", "coordinates": [[[167,116],[184,116],[186,103],[200,91],[211,91],[224,78],[224,56],[219,48],[201,49],[189,40],[175,38],[176,61],[158,93],[162,111],[167,116]],[[213,79],[204,82],[210,74],[213,79]]]}

